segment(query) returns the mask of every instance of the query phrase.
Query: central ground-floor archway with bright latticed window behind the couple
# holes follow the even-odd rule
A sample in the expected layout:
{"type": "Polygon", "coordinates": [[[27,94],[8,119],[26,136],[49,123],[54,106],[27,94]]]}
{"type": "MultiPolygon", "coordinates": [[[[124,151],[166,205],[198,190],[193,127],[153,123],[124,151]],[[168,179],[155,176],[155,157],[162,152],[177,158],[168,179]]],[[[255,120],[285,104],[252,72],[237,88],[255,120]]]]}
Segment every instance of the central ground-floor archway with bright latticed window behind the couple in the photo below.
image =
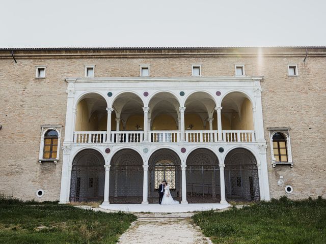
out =
{"type": "Polygon", "coordinates": [[[170,149],[159,149],[149,159],[148,202],[158,203],[158,187],[162,180],[170,185],[174,200],[181,201],[181,161],[170,149]]]}

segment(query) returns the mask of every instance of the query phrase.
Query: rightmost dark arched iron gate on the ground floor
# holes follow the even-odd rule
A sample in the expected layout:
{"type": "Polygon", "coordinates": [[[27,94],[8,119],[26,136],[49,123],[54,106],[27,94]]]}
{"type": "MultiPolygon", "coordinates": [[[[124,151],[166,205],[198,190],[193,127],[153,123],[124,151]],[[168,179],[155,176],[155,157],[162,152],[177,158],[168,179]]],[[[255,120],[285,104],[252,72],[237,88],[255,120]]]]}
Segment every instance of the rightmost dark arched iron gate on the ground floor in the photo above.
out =
{"type": "Polygon", "coordinates": [[[225,158],[224,175],[227,201],[260,200],[257,162],[250,151],[231,150],[225,158]]]}

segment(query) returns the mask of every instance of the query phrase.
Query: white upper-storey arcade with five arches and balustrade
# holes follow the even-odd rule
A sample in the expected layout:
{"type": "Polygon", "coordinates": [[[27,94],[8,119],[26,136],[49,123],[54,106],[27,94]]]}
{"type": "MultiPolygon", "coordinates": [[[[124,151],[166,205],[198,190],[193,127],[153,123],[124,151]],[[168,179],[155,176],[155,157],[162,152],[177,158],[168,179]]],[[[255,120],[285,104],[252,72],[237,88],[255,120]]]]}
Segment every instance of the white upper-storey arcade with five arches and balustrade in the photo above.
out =
{"type": "Polygon", "coordinates": [[[263,140],[262,77],[67,78],[66,142],[263,140]]]}

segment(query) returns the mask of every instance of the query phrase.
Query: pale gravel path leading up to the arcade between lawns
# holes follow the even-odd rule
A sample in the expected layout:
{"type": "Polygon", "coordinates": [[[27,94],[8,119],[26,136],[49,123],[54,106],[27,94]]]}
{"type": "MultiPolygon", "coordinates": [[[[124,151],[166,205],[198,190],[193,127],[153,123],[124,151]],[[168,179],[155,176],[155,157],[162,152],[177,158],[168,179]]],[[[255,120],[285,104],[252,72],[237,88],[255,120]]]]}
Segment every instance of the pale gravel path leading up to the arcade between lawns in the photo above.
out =
{"type": "Polygon", "coordinates": [[[120,244],[210,244],[191,220],[191,213],[137,214],[138,220],[120,236],[120,244]]]}

